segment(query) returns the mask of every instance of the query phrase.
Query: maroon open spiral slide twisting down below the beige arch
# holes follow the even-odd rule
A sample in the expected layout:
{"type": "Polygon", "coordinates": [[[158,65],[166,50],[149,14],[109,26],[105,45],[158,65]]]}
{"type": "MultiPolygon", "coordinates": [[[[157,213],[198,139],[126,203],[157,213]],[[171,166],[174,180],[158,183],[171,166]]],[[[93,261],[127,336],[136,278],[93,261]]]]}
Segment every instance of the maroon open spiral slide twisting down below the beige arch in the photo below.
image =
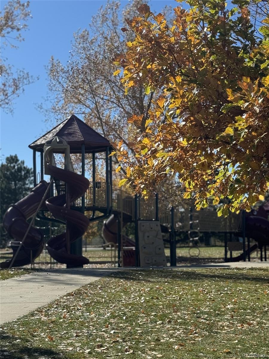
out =
{"type": "MultiPolygon", "coordinates": [[[[66,182],[69,189],[70,203],[83,196],[87,191],[90,182],[87,178],[66,169],[48,165],[49,174],[57,180],[66,182]]],[[[55,218],[66,222],[70,234],[70,243],[80,238],[89,225],[89,219],[84,214],[66,208],[65,194],[51,197],[46,201],[47,208],[55,218]]],[[[67,253],[66,232],[49,239],[47,243],[49,254],[57,262],[72,266],[88,264],[88,258],[67,253]]]]}

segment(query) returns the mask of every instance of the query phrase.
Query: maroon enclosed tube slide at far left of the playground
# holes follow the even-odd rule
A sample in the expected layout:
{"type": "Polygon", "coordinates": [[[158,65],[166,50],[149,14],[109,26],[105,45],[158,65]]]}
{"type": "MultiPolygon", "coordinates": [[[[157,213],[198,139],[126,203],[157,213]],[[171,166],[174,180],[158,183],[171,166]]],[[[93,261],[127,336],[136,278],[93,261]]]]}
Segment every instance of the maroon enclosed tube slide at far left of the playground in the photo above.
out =
{"type": "MultiPolygon", "coordinates": [[[[4,215],[3,225],[9,236],[15,239],[15,241],[11,241],[10,243],[13,250],[13,257],[29,227],[27,219],[31,218],[38,209],[47,187],[48,183],[46,181],[41,181],[36,187],[33,188],[29,195],[24,197],[16,204],[11,205],[4,215]]],[[[30,264],[31,251],[32,260],[34,260],[40,255],[43,247],[44,239],[42,232],[37,228],[31,227],[18,255],[16,256],[13,267],[30,264]]],[[[11,261],[12,259],[1,262],[0,267],[8,268],[11,261]]]]}

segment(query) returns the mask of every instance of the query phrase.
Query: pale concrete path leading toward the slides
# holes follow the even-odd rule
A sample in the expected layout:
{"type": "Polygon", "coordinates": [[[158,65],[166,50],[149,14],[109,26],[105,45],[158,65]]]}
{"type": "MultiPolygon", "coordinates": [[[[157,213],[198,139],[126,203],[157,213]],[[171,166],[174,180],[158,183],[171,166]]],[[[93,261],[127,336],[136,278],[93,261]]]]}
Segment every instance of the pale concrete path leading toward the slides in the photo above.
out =
{"type": "Polygon", "coordinates": [[[0,324],[109,275],[111,270],[53,269],[0,281],[0,324]]]}

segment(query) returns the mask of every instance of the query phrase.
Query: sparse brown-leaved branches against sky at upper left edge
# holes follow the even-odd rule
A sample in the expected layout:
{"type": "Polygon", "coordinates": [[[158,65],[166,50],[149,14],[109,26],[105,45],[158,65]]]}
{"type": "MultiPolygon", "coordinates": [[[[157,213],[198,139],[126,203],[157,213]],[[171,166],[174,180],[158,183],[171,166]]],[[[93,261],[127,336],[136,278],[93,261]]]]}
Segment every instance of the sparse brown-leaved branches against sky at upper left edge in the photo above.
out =
{"type": "MultiPolygon", "coordinates": [[[[0,12],[1,52],[6,46],[17,48],[16,43],[24,41],[22,31],[28,28],[27,21],[32,17],[29,10],[30,2],[11,0],[4,6],[4,13],[0,12]]],[[[0,64],[0,106],[5,112],[13,112],[13,103],[23,91],[24,86],[34,81],[28,72],[17,69],[8,64],[8,59],[2,57],[0,64]]]]}

